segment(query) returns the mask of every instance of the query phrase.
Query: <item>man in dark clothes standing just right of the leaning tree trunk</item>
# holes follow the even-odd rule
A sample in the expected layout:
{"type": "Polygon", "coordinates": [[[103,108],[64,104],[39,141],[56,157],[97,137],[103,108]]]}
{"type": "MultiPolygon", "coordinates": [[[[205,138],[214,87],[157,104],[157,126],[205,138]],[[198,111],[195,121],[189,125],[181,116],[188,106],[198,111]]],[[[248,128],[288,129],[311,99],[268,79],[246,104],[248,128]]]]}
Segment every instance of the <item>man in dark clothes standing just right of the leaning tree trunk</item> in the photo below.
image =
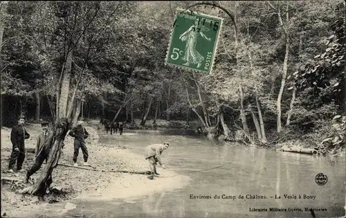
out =
{"type": "Polygon", "coordinates": [[[84,127],[82,127],[83,123],[84,123],[83,120],[80,119],[78,121],[77,127],[73,127],[69,133],[70,136],[75,138],[75,142],[74,142],[75,152],[73,154],[73,163],[75,166],[78,166],[77,157],[78,157],[80,148],[82,149],[82,152],[83,152],[83,158],[84,158],[83,165],[90,166],[90,164],[88,163],[88,157],[89,157],[88,149],[86,148],[85,141],[84,141],[84,139],[88,138],[89,133],[86,131],[84,127]]]}

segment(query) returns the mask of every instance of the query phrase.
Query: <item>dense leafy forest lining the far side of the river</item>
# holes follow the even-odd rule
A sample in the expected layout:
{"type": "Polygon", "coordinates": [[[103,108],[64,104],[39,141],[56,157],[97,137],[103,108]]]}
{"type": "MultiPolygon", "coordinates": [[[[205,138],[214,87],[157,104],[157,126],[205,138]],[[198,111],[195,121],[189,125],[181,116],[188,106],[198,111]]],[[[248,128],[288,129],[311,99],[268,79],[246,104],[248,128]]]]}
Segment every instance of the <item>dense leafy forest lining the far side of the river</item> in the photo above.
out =
{"type": "Polygon", "coordinates": [[[0,7],[1,126],[22,112],[32,122],[82,116],[133,128],[197,120],[219,140],[345,148],[345,1],[0,7]],[[224,18],[212,73],[165,64],[176,8],[224,18]]]}

